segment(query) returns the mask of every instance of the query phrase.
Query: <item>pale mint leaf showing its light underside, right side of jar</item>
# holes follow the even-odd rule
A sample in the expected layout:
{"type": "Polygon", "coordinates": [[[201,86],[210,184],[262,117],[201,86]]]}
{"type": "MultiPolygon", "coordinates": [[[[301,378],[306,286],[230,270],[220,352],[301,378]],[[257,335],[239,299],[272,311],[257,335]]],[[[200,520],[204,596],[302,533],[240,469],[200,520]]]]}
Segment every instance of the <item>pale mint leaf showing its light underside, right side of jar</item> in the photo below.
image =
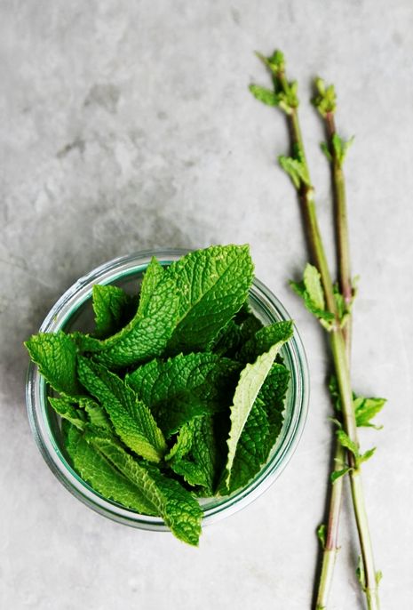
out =
{"type": "Polygon", "coordinates": [[[275,344],[267,352],[258,356],[254,364],[248,364],[242,369],[240,380],[234,393],[234,402],[231,406],[231,428],[227,440],[228,455],[226,460],[226,486],[228,487],[230,485],[231,469],[234,463],[236,447],[242,435],[242,430],[258,397],[258,392],[274,364],[274,358],[279,349],[280,346],[275,344]]]}

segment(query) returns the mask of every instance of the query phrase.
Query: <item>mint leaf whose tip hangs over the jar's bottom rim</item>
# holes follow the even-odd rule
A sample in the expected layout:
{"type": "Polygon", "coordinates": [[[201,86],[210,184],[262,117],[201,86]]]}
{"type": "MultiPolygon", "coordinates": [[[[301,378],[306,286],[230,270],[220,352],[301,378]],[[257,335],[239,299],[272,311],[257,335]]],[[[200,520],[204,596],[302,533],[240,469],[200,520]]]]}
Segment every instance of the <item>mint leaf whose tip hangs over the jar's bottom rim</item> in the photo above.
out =
{"type": "Polygon", "coordinates": [[[188,544],[198,544],[203,511],[178,481],[166,478],[149,464],[133,460],[110,437],[91,434],[88,440],[125,478],[139,488],[147,502],[155,506],[165,524],[171,528],[172,534],[188,544]]]}

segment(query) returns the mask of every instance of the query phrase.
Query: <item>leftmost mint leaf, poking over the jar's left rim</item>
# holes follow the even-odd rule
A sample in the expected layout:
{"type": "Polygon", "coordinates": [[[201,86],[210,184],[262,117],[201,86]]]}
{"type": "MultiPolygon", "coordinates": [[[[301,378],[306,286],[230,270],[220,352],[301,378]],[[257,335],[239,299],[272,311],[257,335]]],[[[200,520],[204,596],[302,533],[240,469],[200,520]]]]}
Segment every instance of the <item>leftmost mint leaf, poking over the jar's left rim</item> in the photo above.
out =
{"type": "Polygon", "coordinates": [[[77,348],[67,334],[39,333],[25,342],[31,359],[53,389],[67,397],[81,394],[77,383],[77,348]]]}

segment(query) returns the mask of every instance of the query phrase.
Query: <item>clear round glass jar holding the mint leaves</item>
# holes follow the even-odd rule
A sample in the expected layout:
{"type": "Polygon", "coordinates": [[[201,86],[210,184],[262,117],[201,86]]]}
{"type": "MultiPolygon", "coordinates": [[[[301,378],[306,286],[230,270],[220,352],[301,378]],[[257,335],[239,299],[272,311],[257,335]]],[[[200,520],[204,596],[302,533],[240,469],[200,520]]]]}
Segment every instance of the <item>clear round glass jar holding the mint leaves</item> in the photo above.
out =
{"type": "MultiPolygon", "coordinates": [[[[94,284],[115,284],[127,292],[133,290],[136,293],[152,256],[156,256],[163,265],[169,265],[187,252],[178,249],[145,251],[105,263],[87,276],[81,277],[60,297],[45,318],[40,332],[55,333],[60,329],[85,332],[91,330],[91,289],[94,284]]],[[[250,289],[250,307],[264,325],[290,319],[281,302],[256,278],[250,289]]],[[[290,370],[290,386],[285,400],[281,434],[266,465],[246,487],[230,496],[202,501],[203,525],[233,514],[266,491],[284,470],[298,445],[306,421],[309,380],[306,354],[297,329],[294,330],[293,338],[282,348],[281,355],[290,370]]],[[[69,492],[91,509],[118,523],[141,529],[167,530],[162,518],[139,515],[107,500],[73,470],[62,443],[60,418],[49,405],[46,382],[33,363],[30,363],[28,368],[26,399],[28,419],[36,443],[52,472],[69,492]]]]}

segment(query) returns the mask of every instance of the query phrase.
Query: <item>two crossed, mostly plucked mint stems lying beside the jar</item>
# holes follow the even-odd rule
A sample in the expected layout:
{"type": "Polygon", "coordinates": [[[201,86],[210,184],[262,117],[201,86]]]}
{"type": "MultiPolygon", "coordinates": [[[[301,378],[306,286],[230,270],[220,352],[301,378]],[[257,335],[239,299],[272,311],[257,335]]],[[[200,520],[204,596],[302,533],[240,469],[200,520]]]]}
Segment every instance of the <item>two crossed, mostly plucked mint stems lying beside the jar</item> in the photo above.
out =
{"type": "Polygon", "coordinates": [[[361,555],[356,574],[361,584],[369,610],[378,610],[378,582],[381,573],[374,565],[373,550],[369,535],[369,523],[361,484],[361,464],[367,462],[375,448],[361,453],[358,428],[377,428],[371,421],[385,404],[383,398],[357,397],[350,380],[351,327],[354,281],[350,275],[350,253],[345,201],[345,179],[343,164],[352,140],[343,140],[336,130],[336,92],[333,85],[326,86],[321,78],[315,81],[316,96],[313,103],[322,116],[327,141],[322,143],[322,151],[330,163],[334,216],[336,225],[336,245],[338,262],[338,282],[333,284],[322,236],[318,225],[314,202],[314,185],[311,181],[306,160],[304,141],[298,120],[298,84],[290,82],[285,72],[282,52],[275,51],[270,57],[258,53],[272,76],[273,89],[256,84],[250,85],[250,92],[268,106],[282,110],[290,128],[290,156],[279,157],[282,169],[288,173],[301,204],[306,226],[306,237],[310,256],[314,265],[307,264],[303,280],[291,282],[291,287],[303,299],[310,311],[329,333],[334,374],[330,381],[330,392],[335,408],[334,425],[335,460],[330,475],[332,484],[328,507],[327,523],[317,530],[322,542],[322,568],[315,591],[316,610],[325,610],[328,603],[334,564],[338,553],[338,523],[343,494],[343,478],[350,478],[354,518],[360,542],[361,555]]]}

